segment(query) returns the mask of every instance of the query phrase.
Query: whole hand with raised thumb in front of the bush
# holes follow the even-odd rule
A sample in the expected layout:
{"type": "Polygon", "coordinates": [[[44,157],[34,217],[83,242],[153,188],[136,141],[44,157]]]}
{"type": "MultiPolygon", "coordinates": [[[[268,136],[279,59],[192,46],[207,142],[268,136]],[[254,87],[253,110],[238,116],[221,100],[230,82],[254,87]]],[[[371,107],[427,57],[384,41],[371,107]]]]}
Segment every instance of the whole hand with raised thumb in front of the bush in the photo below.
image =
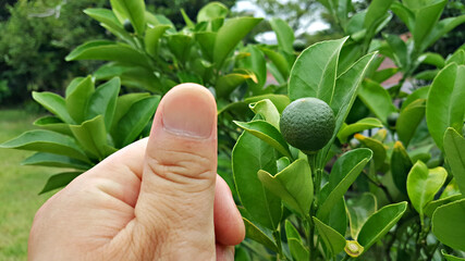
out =
{"type": "Polygon", "coordinates": [[[113,153],[37,212],[29,260],[234,260],[244,223],[217,175],[217,109],[195,84],[160,101],[150,137],[113,153]]]}

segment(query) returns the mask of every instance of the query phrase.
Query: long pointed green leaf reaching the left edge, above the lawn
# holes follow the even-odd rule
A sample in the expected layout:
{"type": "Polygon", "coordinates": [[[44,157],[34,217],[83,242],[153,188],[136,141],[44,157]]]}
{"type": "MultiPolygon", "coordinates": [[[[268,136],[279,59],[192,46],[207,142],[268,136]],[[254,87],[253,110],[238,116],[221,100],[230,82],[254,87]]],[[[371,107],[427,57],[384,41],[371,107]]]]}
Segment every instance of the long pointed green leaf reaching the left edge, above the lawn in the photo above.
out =
{"type": "Polygon", "coordinates": [[[0,148],[49,152],[88,162],[86,154],[73,138],[44,129],[23,133],[21,136],[1,144],[0,148]]]}

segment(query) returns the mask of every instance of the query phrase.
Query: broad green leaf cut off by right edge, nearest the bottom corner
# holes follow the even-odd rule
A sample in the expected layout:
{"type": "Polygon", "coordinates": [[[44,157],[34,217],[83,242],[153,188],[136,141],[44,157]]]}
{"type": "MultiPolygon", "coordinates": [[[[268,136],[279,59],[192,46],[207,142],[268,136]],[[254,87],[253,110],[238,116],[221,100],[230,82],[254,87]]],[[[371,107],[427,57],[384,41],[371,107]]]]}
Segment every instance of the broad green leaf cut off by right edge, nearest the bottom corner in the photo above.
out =
{"type": "Polygon", "coordinates": [[[432,233],[444,245],[465,251],[465,199],[439,207],[432,215],[432,233]]]}

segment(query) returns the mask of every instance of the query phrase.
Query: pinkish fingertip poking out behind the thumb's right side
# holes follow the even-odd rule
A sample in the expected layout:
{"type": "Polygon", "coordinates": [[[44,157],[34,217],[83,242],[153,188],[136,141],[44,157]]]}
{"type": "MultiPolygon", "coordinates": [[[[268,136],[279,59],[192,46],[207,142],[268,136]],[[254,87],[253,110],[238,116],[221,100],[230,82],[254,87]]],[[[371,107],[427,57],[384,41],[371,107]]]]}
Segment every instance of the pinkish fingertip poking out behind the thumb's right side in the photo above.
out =
{"type": "Polygon", "coordinates": [[[230,187],[220,176],[215,190],[215,234],[218,243],[235,246],[244,240],[245,227],[230,187]]]}

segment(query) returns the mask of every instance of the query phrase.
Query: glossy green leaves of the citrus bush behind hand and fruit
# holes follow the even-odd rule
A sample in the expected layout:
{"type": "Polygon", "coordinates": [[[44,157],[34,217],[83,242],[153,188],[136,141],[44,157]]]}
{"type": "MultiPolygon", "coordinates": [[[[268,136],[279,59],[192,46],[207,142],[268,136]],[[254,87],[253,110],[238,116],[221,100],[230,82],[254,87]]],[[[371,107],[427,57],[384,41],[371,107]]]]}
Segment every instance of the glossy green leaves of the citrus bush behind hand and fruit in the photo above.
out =
{"type": "Polygon", "coordinates": [[[74,79],[65,98],[35,92],[56,116],[36,122],[46,130],[2,147],[40,151],[26,164],[78,170],[53,176],[45,190],[65,185],[147,135],[159,97],[119,97],[120,79],[156,95],[194,82],[217,99],[218,172],[246,226],[238,260],[463,258],[465,50],[448,57],[428,50],[465,15],[441,18],[446,0],[374,0],[357,13],[351,1],[319,2],[345,37],[301,53],[281,18],[269,21],[277,46],[245,45],[260,20],[229,17],[218,2],[196,22],[183,13],[182,29],[142,0],[87,9],[117,40],[87,41],[66,59],[107,63],[74,79]],[[394,15],[411,38],[386,33],[394,15]],[[381,70],[388,58],[395,67],[381,70]],[[268,72],[278,84],[267,84],[268,72]],[[399,83],[384,88],[397,73],[399,83]],[[325,101],[335,120],[329,144],[311,152],[290,146],[280,130],[283,110],[308,97],[325,101]]]}

